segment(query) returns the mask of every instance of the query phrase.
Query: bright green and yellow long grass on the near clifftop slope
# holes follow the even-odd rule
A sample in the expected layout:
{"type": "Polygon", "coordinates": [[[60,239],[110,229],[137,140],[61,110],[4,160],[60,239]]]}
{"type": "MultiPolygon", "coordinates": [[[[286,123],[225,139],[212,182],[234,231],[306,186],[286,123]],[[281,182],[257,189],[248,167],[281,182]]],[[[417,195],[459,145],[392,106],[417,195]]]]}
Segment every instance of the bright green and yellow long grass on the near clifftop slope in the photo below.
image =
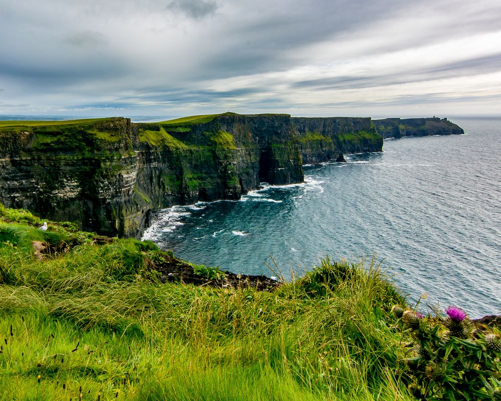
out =
{"type": "Polygon", "coordinates": [[[374,261],[273,292],[161,284],[153,244],[42,223],[0,206],[0,400],[412,399],[374,261]]]}

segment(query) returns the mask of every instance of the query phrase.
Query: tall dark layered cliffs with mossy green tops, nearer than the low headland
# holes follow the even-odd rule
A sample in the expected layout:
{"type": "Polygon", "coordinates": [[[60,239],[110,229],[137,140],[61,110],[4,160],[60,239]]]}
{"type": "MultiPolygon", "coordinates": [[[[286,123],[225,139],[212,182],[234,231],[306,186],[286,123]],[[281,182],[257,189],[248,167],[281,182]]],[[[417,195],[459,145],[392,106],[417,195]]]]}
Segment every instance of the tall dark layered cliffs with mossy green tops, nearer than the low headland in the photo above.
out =
{"type": "Polygon", "coordinates": [[[304,163],[381,151],[376,129],[370,118],[287,114],[0,121],[0,202],[86,231],[139,236],[152,210],[238,199],[262,181],[302,182],[304,163]]]}

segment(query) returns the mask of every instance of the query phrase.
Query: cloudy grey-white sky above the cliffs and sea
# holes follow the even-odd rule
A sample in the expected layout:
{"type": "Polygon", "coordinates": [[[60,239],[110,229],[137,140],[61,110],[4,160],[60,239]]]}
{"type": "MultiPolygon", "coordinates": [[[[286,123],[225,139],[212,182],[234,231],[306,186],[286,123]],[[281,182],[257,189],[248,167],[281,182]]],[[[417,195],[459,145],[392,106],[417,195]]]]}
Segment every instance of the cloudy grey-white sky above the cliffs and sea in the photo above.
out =
{"type": "Polygon", "coordinates": [[[501,116],[499,0],[0,0],[0,114],[501,116]]]}

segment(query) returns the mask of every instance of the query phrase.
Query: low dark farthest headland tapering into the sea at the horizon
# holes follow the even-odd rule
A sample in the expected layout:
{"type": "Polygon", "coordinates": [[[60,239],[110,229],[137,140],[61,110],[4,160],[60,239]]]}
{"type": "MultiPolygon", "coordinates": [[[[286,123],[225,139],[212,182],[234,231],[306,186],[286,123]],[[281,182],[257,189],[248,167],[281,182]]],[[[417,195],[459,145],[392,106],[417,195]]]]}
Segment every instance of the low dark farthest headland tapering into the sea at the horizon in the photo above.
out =
{"type": "Polygon", "coordinates": [[[376,132],[384,139],[404,136],[458,135],[464,131],[446,118],[385,118],[373,120],[376,132]]]}

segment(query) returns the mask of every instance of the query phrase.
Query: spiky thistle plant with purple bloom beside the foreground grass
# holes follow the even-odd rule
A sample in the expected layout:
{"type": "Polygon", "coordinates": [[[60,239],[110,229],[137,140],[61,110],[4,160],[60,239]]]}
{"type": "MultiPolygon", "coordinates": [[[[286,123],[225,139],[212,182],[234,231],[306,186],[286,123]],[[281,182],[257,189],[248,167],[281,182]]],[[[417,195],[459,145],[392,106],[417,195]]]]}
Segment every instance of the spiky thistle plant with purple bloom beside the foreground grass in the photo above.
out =
{"type": "Polygon", "coordinates": [[[501,400],[501,336],[482,332],[456,307],[423,316],[394,306],[403,335],[411,339],[402,378],[419,400],[501,400]]]}

